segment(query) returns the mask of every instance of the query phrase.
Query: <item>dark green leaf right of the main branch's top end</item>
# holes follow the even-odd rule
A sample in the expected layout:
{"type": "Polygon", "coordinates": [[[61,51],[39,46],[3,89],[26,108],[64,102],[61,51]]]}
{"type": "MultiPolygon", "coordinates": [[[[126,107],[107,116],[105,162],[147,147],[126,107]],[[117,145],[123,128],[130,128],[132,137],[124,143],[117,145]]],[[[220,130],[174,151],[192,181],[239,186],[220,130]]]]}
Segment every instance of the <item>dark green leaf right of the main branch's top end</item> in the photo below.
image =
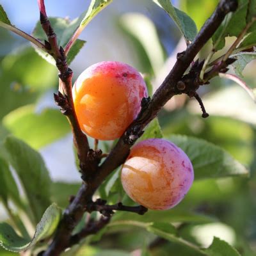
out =
{"type": "Polygon", "coordinates": [[[225,26],[225,32],[223,33],[223,24],[216,30],[216,32],[212,36],[212,44],[215,45],[214,48],[216,49],[216,51],[222,49],[225,46],[226,36],[238,36],[244,29],[244,27],[246,26],[247,8],[248,0],[239,0],[236,12],[232,13],[231,19],[228,20],[228,24],[227,26],[225,26]],[[219,38],[220,42],[218,43],[218,45],[216,45],[216,42],[217,40],[219,40],[219,38]]]}

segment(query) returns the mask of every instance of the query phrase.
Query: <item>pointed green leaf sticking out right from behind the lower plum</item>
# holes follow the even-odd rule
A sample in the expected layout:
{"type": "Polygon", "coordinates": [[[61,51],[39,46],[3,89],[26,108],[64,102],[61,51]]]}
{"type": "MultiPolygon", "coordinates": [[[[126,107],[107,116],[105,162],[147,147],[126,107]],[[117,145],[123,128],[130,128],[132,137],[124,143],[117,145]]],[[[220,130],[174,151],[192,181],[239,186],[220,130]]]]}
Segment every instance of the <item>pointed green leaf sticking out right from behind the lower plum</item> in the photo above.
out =
{"type": "Polygon", "coordinates": [[[212,143],[179,135],[170,136],[169,139],[188,155],[193,164],[195,180],[249,175],[241,163],[212,143]]]}

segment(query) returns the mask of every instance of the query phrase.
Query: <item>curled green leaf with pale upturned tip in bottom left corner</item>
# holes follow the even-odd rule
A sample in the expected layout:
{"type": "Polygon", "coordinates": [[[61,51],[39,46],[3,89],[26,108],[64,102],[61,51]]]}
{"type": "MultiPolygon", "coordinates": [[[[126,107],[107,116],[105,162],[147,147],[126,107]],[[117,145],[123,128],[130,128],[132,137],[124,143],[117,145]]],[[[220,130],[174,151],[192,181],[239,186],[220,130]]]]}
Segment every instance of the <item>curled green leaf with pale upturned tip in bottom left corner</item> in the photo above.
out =
{"type": "Polygon", "coordinates": [[[15,230],[7,223],[0,223],[0,245],[12,252],[28,250],[38,241],[51,237],[58,226],[60,218],[60,208],[56,204],[50,205],[44,212],[38,225],[36,225],[32,241],[18,236],[15,230]]]}

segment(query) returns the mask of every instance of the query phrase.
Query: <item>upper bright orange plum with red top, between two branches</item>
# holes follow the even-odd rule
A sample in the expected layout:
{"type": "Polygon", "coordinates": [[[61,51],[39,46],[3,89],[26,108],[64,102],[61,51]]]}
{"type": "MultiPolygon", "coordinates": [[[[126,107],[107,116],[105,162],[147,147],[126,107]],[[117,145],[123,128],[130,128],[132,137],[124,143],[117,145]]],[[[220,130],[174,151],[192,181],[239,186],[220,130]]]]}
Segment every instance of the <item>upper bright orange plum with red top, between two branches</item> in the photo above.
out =
{"type": "Polygon", "coordinates": [[[120,138],[140,112],[141,99],[148,95],[140,73],[118,61],[86,68],[72,94],[81,130],[98,140],[120,138]]]}

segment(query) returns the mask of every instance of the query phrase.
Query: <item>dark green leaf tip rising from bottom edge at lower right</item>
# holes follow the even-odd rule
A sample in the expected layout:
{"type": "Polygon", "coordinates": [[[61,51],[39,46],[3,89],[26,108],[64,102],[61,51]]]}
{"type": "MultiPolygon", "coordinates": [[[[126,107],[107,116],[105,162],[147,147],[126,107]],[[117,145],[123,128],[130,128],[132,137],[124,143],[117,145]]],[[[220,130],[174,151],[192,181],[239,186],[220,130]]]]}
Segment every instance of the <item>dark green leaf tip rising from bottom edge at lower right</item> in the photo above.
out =
{"type": "Polygon", "coordinates": [[[209,256],[241,256],[235,248],[218,237],[214,237],[211,246],[205,252],[209,256]]]}

